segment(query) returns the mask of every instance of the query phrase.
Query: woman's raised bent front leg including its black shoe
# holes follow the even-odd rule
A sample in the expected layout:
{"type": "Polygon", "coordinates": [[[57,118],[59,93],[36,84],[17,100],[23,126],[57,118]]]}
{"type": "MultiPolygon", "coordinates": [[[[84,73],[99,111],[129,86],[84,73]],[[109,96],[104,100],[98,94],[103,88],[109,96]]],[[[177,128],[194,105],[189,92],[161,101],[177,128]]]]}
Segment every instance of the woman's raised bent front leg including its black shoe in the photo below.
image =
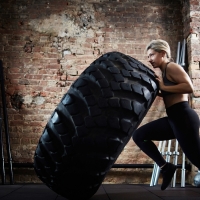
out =
{"type": "Polygon", "coordinates": [[[165,190],[170,184],[176,166],[171,163],[166,163],[165,159],[158,151],[158,148],[151,140],[163,141],[174,138],[175,136],[167,117],[150,122],[133,133],[133,140],[135,143],[151,157],[159,167],[162,167],[161,174],[163,176],[163,182],[161,184],[161,190],[165,190]]]}

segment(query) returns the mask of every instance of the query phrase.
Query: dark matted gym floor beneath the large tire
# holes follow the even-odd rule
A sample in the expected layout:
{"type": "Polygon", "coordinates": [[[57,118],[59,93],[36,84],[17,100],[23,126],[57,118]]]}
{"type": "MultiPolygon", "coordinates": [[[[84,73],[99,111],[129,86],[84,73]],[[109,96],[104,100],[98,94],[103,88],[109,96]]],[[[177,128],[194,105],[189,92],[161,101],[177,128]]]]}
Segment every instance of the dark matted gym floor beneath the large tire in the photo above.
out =
{"type": "MultiPolygon", "coordinates": [[[[2,200],[66,200],[43,184],[0,185],[2,200]]],[[[103,184],[91,200],[200,200],[200,188],[186,185],[181,188],[168,187],[161,191],[160,185],[145,184],[103,184]]],[[[82,200],[82,199],[80,199],[82,200]]]]}

